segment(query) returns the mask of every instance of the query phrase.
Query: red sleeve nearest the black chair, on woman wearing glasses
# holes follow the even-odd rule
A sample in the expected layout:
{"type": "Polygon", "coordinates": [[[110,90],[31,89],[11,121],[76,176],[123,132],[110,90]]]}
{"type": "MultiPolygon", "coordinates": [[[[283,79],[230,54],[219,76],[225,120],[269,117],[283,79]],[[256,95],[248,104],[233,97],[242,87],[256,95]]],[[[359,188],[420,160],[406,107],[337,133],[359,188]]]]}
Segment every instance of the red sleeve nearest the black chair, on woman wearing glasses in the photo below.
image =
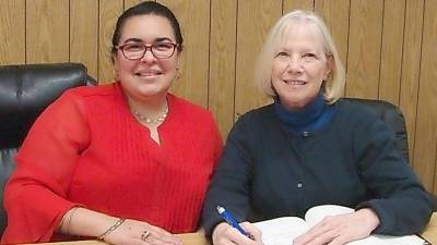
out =
{"type": "Polygon", "coordinates": [[[36,120],[5,186],[2,244],[50,241],[63,215],[75,206],[66,195],[88,138],[83,105],[69,93],[36,120]]]}

